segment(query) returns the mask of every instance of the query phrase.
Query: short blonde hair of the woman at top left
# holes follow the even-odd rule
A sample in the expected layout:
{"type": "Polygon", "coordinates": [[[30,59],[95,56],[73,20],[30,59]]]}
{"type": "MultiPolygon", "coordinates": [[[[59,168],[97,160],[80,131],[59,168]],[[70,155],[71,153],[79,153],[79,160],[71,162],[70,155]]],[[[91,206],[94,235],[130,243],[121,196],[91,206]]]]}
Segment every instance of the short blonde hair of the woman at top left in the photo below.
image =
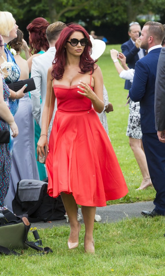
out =
{"type": "Polygon", "coordinates": [[[8,11],[0,11],[0,34],[9,37],[9,33],[14,28],[14,18],[8,11]]]}

